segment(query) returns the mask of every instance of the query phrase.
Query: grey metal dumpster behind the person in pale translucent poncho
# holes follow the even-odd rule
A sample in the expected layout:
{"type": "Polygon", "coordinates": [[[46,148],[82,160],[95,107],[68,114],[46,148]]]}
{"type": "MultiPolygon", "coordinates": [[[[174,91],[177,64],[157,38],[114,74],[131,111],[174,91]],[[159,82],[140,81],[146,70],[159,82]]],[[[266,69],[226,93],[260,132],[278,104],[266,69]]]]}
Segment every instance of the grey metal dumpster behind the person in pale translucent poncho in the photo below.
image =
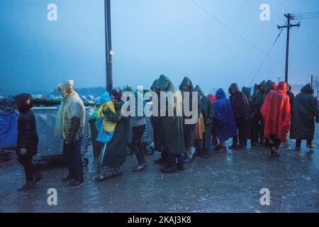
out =
{"type": "MultiPolygon", "coordinates": [[[[86,158],[86,152],[89,146],[89,107],[86,106],[85,109],[86,118],[81,145],[81,154],[84,166],[89,163],[89,160],[86,158]]],[[[35,155],[33,160],[35,162],[40,162],[40,160],[63,157],[63,140],[59,136],[55,135],[57,107],[33,107],[32,111],[35,115],[37,133],[39,137],[38,154],[35,155]]]]}

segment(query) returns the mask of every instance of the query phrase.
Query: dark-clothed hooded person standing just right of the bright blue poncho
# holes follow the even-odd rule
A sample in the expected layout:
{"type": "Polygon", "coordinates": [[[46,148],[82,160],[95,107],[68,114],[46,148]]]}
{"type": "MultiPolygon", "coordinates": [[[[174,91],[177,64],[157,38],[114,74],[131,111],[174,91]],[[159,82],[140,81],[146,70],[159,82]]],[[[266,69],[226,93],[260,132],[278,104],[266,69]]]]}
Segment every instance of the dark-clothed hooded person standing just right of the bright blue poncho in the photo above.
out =
{"type": "Polygon", "coordinates": [[[230,103],[232,104],[236,125],[238,128],[238,137],[237,135],[233,137],[233,145],[230,148],[233,149],[242,149],[247,146],[247,138],[249,137],[249,104],[247,96],[244,92],[240,92],[237,84],[230,84],[229,87],[230,93],[230,103]],[[239,142],[239,145],[238,145],[239,142]]]}

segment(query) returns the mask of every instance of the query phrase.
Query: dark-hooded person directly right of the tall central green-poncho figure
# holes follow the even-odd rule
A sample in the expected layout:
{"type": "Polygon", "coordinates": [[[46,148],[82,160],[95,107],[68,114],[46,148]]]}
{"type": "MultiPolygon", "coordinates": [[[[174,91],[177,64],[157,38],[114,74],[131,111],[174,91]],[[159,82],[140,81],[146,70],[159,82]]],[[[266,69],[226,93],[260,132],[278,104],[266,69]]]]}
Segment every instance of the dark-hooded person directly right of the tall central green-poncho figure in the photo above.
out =
{"type": "Polygon", "coordinates": [[[193,147],[194,147],[194,140],[195,140],[195,128],[196,128],[196,122],[201,114],[201,97],[198,94],[198,105],[197,105],[197,118],[196,121],[192,124],[186,123],[186,119],[192,118],[192,116],[185,116],[184,114],[184,104],[185,102],[189,102],[189,110],[192,110],[193,107],[196,108],[196,106],[192,105],[192,97],[194,92],[193,83],[188,77],[184,77],[183,81],[181,82],[181,85],[179,85],[179,90],[181,91],[181,95],[183,98],[183,118],[184,118],[184,142],[185,142],[185,148],[186,148],[186,162],[191,161],[193,159],[193,147]],[[189,93],[186,93],[189,92],[189,93]]]}

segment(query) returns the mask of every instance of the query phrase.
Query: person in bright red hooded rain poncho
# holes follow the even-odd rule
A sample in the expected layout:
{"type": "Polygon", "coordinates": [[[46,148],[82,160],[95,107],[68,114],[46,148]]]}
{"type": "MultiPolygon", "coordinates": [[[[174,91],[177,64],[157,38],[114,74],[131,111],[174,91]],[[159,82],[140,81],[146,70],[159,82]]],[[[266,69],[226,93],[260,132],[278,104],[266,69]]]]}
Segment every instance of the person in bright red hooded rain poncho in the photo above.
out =
{"type": "Polygon", "coordinates": [[[262,105],[264,117],[264,137],[268,138],[272,155],[279,156],[280,143],[286,142],[290,130],[290,102],[286,82],[279,82],[276,89],[269,92],[262,105]]]}

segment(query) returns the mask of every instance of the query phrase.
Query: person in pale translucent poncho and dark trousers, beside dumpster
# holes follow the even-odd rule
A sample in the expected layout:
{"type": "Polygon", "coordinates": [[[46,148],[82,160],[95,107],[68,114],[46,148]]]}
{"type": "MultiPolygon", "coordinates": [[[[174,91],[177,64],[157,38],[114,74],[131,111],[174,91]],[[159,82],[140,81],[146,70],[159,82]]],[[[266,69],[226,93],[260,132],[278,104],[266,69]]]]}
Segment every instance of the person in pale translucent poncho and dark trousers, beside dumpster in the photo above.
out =
{"type": "Polygon", "coordinates": [[[84,183],[81,141],[84,134],[85,108],[83,101],[74,91],[73,80],[60,84],[59,89],[63,100],[57,111],[55,128],[57,135],[64,140],[63,154],[69,168],[69,175],[62,178],[62,182],[67,182],[67,187],[77,187],[84,183]]]}

